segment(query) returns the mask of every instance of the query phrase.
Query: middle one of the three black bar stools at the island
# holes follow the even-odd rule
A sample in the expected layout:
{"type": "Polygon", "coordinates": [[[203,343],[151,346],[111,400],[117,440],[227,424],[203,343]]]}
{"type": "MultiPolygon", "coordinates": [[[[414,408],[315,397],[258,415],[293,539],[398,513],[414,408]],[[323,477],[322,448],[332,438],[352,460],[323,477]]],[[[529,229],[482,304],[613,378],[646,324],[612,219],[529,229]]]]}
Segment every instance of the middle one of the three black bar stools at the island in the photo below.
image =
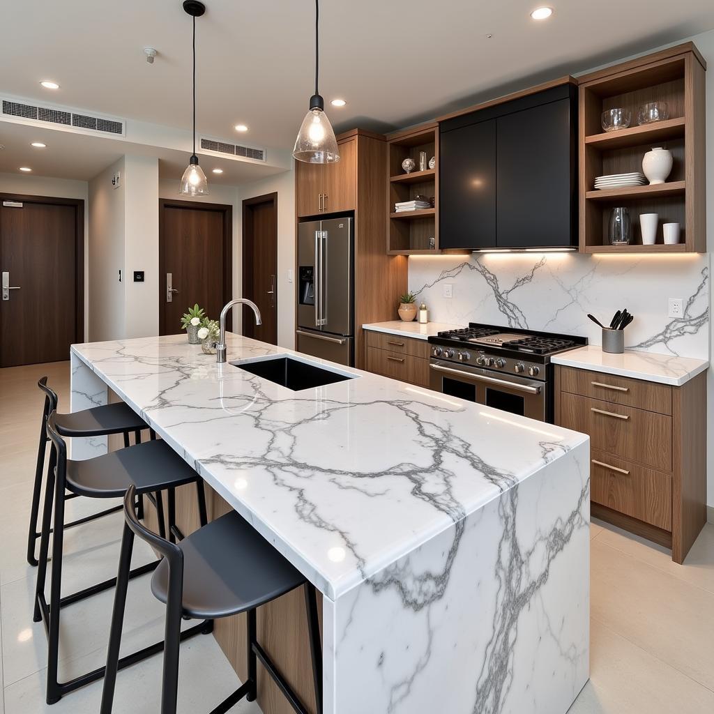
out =
{"type": "MultiPolygon", "coordinates": [[[[61,608],[116,585],[116,578],[111,578],[110,580],[105,580],[104,583],[98,583],[90,588],[81,590],[79,593],[67,595],[64,598],[61,597],[62,546],[64,528],[66,527],[64,526],[65,491],[69,490],[70,493],[74,493],[77,496],[85,496],[86,498],[121,498],[131,487],[132,498],[138,500],[141,494],[153,492],[156,494],[156,503],[161,506],[161,503],[163,503],[161,491],[170,490],[169,492],[171,492],[178,486],[196,483],[198,513],[201,524],[206,523],[208,517],[206,514],[206,496],[203,491],[203,480],[164,441],[146,441],[135,446],[119,449],[119,451],[112,451],[103,456],[97,456],[96,458],[71,461],[67,458],[66,442],[57,428],[56,413],[52,412],[48,416],[46,428],[47,434],[52,441],[51,463],[54,463],[55,466],[47,473],[34,620],[35,622],[43,620],[45,625],[49,643],[46,699],[48,704],[54,704],[63,695],[101,679],[105,671],[104,667],[100,667],[69,682],[59,682],[59,619],[61,608]],[[50,602],[48,605],[44,589],[53,503],[54,538],[52,543],[50,602]]],[[[157,514],[159,516],[159,528],[163,533],[164,513],[161,507],[157,509],[157,514]]],[[[174,525],[174,513],[170,511],[169,528],[172,525],[174,525]]],[[[151,572],[160,562],[160,560],[155,560],[152,563],[130,570],[128,579],[151,572]]],[[[208,620],[180,633],[180,638],[183,640],[198,633],[209,633],[212,630],[213,623],[208,620]]],[[[149,645],[149,647],[121,658],[119,660],[119,668],[139,662],[150,655],[161,652],[163,649],[163,641],[149,645]]]]}

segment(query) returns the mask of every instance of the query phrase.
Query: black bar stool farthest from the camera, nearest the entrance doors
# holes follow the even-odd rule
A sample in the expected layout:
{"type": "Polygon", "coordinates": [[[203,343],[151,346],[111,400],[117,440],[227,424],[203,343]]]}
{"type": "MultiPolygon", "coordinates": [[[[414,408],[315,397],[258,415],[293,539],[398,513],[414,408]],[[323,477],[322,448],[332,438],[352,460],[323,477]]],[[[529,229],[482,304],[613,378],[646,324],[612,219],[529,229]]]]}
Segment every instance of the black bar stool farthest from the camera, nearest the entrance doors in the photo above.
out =
{"type": "MultiPolygon", "coordinates": [[[[57,394],[47,386],[47,378],[42,377],[37,386],[45,393],[44,408],[42,410],[42,423],[40,426],[39,445],[37,447],[37,464],[35,468],[35,481],[32,489],[32,506],[30,511],[30,524],[27,533],[27,562],[29,565],[37,565],[35,558],[35,545],[41,533],[37,530],[39,520],[40,494],[42,491],[42,474],[44,472],[44,461],[46,444],[49,441],[47,436],[47,417],[57,410],[57,394]]],[[[71,414],[56,414],[57,431],[62,436],[109,436],[109,434],[124,434],[124,446],[129,446],[129,434],[134,432],[134,440],[141,441],[141,430],[146,429],[144,420],[124,402],[116,404],[105,404],[91,409],[84,409],[71,414]]],[[[151,438],[156,438],[151,432],[151,438]]],[[[54,468],[54,464],[49,464],[49,469],[54,468]]],[[[74,494],[69,494],[67,498],[76,498],[74,494]]],[[[107,516],[109,513],[116,513],[121,506],[108,508],[101,513],[92,513],[91,516],[78,518],[71,523],[65,523],[65,528],[79,526],[81,523],[94,521],[95,518],[107,516]]]]}

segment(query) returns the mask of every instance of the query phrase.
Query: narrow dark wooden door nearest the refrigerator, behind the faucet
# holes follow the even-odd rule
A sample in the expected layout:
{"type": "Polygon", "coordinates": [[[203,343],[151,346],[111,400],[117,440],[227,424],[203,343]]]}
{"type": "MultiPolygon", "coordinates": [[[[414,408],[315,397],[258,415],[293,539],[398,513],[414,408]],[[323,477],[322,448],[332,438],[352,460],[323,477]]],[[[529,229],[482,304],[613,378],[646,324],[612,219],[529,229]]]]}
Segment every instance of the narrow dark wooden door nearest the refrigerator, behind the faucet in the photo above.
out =
{"type": "Polygon", "coordinates": [[[243,334],[278,343],[278,194],[243,201],[243,297],[261,311],[256,326],[253,311],[243,306],[243,334]]]}

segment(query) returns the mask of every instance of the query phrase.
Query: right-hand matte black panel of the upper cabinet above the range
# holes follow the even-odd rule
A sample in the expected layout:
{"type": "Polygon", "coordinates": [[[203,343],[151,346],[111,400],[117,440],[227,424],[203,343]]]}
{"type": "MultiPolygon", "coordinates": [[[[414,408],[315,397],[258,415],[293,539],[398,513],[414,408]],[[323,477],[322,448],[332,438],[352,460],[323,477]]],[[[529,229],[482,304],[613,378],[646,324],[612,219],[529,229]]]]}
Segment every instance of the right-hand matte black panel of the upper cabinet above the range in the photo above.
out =
{"type": "Polygon", "coordinates": [[[570,246],[571,129],[568,99],[496,119],[498,248],[570,246]]]}

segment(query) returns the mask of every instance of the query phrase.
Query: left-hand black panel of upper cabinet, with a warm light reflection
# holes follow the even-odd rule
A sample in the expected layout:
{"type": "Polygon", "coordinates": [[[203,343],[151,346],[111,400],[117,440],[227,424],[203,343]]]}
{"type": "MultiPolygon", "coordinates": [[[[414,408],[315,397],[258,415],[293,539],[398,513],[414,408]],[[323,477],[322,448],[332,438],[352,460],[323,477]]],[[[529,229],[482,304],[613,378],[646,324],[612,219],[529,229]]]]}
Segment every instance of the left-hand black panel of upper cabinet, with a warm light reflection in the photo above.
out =
{"type": "Polygon", "coordinates": [[[441,134],[439,246],[488,248],[496,236],[496,121],[441,134]]]}

